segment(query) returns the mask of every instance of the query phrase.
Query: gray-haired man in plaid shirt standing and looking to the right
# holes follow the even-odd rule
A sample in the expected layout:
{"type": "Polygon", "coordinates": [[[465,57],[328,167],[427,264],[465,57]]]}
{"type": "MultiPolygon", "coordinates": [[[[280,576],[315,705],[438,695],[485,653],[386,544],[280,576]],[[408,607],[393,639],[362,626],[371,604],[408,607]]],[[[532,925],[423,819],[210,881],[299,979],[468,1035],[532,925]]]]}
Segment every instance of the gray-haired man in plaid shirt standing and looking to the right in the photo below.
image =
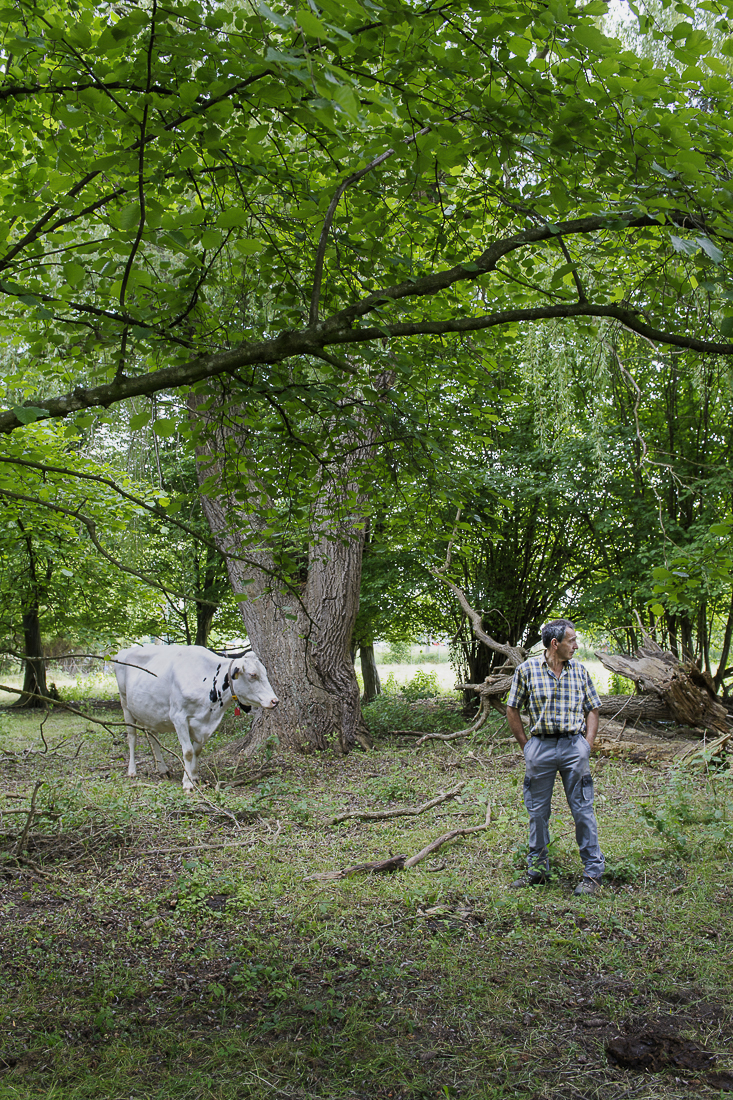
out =
{"type": "Polygon", "coordinates": [[[575,893],[595,894],[601,888],[604,861],[598,843],[589,761],[601,700],[588,669],[572,659],[578,641],[569,619],[554,619],[544,626],[543,646],[544,657],[530,657],[515,670],[506,703],[510,729],[524,752],[524,804],[529,814],[527,873],[512,887],[547,882],[553,788],[559,771],[584,867],[575,893]],[[529,738],[519,715],[524,708],[529,713],[529,738]]]}

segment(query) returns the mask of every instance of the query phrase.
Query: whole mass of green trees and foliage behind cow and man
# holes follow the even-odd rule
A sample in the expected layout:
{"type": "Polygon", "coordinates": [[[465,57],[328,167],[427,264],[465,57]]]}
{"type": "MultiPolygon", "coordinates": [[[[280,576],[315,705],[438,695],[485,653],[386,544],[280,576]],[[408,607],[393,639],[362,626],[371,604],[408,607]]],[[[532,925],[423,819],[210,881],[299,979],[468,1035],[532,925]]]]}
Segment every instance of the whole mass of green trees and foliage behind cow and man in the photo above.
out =
{"type": "Polygon", "coordinates": [[[244,636],[282,743],[348,749],[375,639],[490,670],[449,546],[500,642],[638,612],[725,693],[729,16],[3,9],[22,702],[48,654],[244,636]]]}

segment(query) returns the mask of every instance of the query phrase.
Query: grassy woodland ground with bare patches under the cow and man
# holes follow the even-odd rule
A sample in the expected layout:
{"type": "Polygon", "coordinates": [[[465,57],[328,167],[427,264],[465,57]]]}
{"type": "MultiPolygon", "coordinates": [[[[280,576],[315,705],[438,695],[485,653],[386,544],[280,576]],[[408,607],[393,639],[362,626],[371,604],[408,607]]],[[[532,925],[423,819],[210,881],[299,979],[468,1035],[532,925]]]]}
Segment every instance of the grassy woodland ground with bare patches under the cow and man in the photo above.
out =
{"type": "Polygon", "coordinates": [[[37,717],[0,717],[0,1100],[733,1088],[731,772],[597,760],[602,895],[572,897],[561,794],[555,883],[512,892],[526,824],[505,728],[418,748],[387,730],[460,715],[404,693],[370,721],[370,754],[244,762],[229,718],[205,754],[208,785],[186,796],[179,771],[158,781],[150,759],[125,778],[119,727],[54,713],[42,738],[37,717]],[[461,782],[418,816],[328,824],[461,782]],[[489,802],[485,833],[412,870],[308,880],[412,855],[484,822],[489,802]],[[620,1035],[646,1044],[649,1068],[614,1064],[620,1035]]]}

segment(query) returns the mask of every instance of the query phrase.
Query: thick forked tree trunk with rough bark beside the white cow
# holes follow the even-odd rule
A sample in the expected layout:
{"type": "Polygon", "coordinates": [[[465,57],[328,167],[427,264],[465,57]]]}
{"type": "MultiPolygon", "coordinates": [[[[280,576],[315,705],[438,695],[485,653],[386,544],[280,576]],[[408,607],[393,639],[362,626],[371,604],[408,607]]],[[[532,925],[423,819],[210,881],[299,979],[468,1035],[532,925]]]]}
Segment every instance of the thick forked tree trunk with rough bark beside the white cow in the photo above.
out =
{"type": "MultiPolygon", "coordinates": [[[[196,414],[194,403],[192,410],[196,414]]],[[[203,498],[204,512],[227,558],[234,594],[247,595],[240,604],[247,636],[280,698],[274,712],[253,710],[245,754],[252,755],[272,735],[281,745],[305,751],[370,748],[350,652],[359,609],[364,515],[363,497],[349,480],[349,469],[341,471],[338,486],[324,487],[314,524],[319,534],[307,547],[297,591],[286,591],[276,579],[275,553],[261,535],[256,514],[243,509],[234,495],[247,486],[255,494],[248,472],[248,440],[223,414],[218,414],[218,422],[210,411],[199,415],[207,417],[209,428],[207,442],[198,450],[199,473],[201,480],[214,474],[222,486],[216,499],[203,498]],[[355,494],[355,505],[352,497],[344,506],[349,493],[355,494]],[[249,564],[238,556],[247,557],[249,564]]],[[[363,458],[360,450],[352,449],[352,470],[363,458]]]]}

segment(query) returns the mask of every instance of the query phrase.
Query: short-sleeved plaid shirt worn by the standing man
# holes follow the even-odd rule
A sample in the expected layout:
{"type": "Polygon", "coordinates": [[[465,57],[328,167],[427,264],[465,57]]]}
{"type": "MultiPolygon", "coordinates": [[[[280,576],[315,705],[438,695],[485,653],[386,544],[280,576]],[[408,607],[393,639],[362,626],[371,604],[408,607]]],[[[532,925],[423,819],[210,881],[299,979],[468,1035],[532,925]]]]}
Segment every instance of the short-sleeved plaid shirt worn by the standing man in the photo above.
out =
{"type": "Polygon", "coordinates": [[[566,661],[558,679],[544,657],[530,657],[515,669],[506,705],[528,711],[532,734],[584,734],[586,715],[601,700],[580,661],[566,661]]]}

